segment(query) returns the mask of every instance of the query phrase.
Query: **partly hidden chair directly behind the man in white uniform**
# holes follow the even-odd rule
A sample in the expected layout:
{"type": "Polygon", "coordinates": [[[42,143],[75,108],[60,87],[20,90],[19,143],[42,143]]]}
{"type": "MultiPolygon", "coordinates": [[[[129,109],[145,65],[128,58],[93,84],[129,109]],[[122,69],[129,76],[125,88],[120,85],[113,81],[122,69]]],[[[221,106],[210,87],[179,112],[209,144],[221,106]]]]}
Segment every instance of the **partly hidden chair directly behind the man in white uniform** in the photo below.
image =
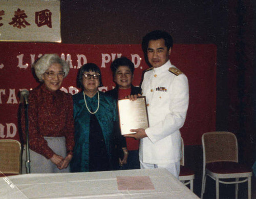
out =
{"type": "Polygon", "coordinates": [[[188,167],[184,166],[184,142],[183,139],[181,138],[181,160],[180,160],[180,176],[179,180],[184,184],[184,185],[189,185],[190,190],[193,192],[194,189],[194,179],[195,179],[195,172],[188,167]]]}

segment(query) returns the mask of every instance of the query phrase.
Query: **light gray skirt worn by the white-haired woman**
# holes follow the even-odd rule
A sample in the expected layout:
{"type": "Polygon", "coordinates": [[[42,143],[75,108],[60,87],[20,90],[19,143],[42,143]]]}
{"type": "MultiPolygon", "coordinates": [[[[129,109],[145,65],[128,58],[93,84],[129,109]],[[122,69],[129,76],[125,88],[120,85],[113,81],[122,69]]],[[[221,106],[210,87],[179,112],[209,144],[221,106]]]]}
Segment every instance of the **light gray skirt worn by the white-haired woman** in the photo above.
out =
{"type": "MultiPolygon", "coordinates": [[[[48,146],[55,154],[65,158],[67,156],[66,139],[65,137],[44,137],[48,146]]],[[[30,172],[31,173],[67,173],[70,172],[70,166],[66,169],[58,169],[57,166],[49,159],[46,159],[41,154],[29,149],[30,153],[30,172]]],[[[22,173],[26,174],[26,146],[23,149],[22,156],[22,173]]]]}

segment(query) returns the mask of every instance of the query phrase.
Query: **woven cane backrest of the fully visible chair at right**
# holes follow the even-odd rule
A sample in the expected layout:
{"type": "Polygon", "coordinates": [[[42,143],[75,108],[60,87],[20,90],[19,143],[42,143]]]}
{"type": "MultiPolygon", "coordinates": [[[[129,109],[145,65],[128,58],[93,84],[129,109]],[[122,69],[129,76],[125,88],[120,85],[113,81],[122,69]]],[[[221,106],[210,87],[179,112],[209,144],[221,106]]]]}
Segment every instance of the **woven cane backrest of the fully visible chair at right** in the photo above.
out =
{"type": "Polygon", "coordinates": [[[202,136],[204,164],[210,162],[238,162],[238,142],[232,132],[206,132],[202,136]]]}

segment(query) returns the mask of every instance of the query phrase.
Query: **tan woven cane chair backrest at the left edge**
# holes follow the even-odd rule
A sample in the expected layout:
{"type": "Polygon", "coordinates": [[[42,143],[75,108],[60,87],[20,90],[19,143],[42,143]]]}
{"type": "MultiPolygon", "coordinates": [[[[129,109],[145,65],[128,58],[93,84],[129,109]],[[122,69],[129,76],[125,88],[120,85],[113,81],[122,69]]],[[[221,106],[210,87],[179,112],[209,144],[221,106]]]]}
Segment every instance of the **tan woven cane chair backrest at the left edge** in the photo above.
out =
{"type": "Polygon", "coordinates": [[[21,146],[17,140],[0,140],[0,171],[20,173],[21,146]]]}

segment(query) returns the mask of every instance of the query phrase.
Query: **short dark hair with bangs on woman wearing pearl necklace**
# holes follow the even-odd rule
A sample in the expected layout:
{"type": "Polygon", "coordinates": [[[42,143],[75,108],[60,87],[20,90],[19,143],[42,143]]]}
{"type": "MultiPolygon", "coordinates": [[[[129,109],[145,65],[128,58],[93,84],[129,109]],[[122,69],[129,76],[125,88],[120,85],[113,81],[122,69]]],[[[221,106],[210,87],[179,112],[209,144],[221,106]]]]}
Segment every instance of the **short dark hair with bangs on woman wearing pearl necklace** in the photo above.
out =
{"type": "Polygon", "coordinates": [[[101,72],[99,67],[95,64],[95,63],[86,63],[84,65],[82,65],[82,67],[79,70],[79,74],[78,74],[78,80],[77,80],[77,86],[80,88],[83,88],[82,86],[82,76],[84,72],[95,72],[95,73],[99,73],[99,87],[102,86],[102,80],[101,80],[101,72]]]}

